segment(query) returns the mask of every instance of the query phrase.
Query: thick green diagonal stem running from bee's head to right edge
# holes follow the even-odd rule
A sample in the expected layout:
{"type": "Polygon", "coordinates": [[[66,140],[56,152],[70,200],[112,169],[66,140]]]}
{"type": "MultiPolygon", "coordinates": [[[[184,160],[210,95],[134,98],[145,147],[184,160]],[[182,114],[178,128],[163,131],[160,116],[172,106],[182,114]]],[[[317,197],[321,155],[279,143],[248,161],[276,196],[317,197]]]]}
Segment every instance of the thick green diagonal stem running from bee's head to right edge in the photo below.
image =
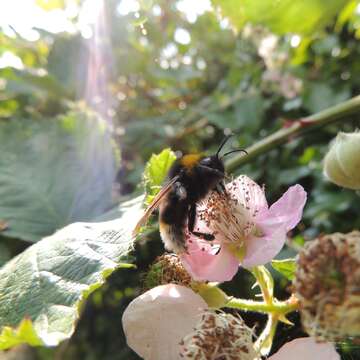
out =
{"type": "Polygon", "coordinates": [[[237,155],[232,159],[229,159],[225,164],[226,170],[229,172],[234,171],[239,166],[249,163],[257,156],[264,154],[295,137],[356,113],[360,113],[360,95],[314,115],[294,121],[292,125],[288,127],[283,127],[247,148],[246,151],[248,152],[248,155],[237,155]]]}

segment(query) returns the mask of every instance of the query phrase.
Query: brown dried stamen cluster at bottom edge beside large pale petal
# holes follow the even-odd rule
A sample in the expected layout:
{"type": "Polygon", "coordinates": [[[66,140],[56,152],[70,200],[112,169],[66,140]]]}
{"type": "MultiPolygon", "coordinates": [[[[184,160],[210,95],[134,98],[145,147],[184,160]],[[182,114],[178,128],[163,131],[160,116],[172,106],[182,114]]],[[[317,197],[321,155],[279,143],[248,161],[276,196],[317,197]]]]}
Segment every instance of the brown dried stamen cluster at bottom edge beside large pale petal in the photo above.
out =
{"type": "Polygon", "coordinates": [[[253,331],[240,317],[207,310],[180,345],[180,357],[195,360],[254,360],[253,331]]]}

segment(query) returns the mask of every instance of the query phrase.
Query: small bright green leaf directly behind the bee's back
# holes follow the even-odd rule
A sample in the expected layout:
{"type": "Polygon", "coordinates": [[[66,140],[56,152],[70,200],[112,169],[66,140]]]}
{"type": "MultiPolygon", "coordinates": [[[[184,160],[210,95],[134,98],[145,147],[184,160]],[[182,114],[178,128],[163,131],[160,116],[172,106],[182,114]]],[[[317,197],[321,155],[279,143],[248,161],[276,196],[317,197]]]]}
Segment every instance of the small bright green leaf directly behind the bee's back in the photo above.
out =
{"type": "Polygon", "coordinates": [[[144,184],[147,194],[146,203],[150,203],[161,189],[166,175],[176,160],[176,155],[170,149],[164,149],[160,154],[153,154],[147,162],[144,171],[144,184]]]}

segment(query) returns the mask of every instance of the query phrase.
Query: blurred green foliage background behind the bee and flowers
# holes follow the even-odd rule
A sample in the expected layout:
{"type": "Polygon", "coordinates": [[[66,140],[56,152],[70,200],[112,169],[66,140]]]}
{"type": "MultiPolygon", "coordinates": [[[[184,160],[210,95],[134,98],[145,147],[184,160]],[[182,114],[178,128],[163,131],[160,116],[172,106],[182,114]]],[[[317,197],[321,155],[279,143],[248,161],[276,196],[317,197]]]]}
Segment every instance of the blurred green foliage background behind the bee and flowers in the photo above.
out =
{"type": "MultiPolygon", "coordinates": [[[[116,217],[118,203],[142,192],[153,153],[212,152],[230,130],[236,136],[229,147],[246,147],[360,93],[359,1],[283,0],[275,8],[269,1],[239,7],[236,0],[213,0],[221,14],[198,15],[184,12],[180,0],[142,1],[125,14],[119,10],[125,2],[105,2],[90,38],[37,29],[38,39],[29,41],[0,28],[0,58],[11,53],[22,64],[0,68],[0,220],[11,225],[1,233],[0,262],[22,251],[24,241],[67,223],[116,217]],[[70,120],[62,126],[61,119],[70,120]],[[88,128],[91,121],[96,125],[88,128]],[[56,221],[43,206],[49,194],[61,210],[56,221]]],[[[38,3],[49,11],[67,4],[38,3]]],[[[358,198],[328,183],[321,163],[336,133],[356,127],[354,116],[235,171],[265,183],[270,203],[294,183],[308,191],[303,222],[280,257],[322,232],[359,228],[358,198]]],[[[141,272],[162,251],[157,233],[144,233],[134,253],[138,270],[113,274],[91,297],[74,337],[53,352],[66,359],[135,359],[121,333],[121,313],[141,289],[141,272]]],[[[236,279],[250,285],[245,272],[236,279]]],[[[279,284],[275,292],[284,297],[287,283],[279,284]]],[[[253,295],[249,287],[224,287],[253,295]]],[[[246,316],[252,324],[262,321],[246,316]]],[[[280,329],[274,350],[301,334],[299,326],[287,330],[290,335],[280,329]]],[[[349,358],[356,357],[351,351],[349,358]]]]}

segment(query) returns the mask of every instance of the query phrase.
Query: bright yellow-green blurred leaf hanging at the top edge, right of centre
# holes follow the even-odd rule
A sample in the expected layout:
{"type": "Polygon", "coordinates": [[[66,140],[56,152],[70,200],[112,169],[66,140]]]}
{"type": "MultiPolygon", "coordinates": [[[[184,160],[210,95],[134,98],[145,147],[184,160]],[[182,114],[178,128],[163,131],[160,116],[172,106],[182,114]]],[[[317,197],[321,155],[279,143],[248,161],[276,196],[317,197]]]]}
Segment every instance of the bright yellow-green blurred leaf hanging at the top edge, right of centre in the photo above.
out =
{"type": "Polygon", "coordinates": [[[325,27],[348,3],[345,0],[212,0],[236,28],[247,22],[273,32],[310,34],[325,27]]]}

